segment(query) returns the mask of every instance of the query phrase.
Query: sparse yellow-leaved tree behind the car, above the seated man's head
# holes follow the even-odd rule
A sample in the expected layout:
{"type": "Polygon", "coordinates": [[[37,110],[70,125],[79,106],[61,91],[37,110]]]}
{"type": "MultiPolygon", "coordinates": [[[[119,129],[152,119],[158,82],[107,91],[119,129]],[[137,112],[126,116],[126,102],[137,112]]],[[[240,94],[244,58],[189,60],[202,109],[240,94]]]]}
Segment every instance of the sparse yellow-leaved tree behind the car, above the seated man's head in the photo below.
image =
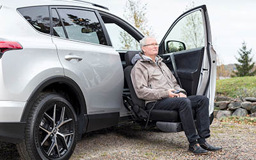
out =
{"type": "MultiPolygon", "coordinates": [[[[124,17],[144,35],[154,35],[153,29],[148,25],[146,17],[147,3],[141,4],[139,0],[127,0],[124,8],[124,17]]],[[[126,31],[120,32],[121,43],[124,44],[123,49],[136,48],[140,49],[138,42],[134,42],[133,38],[126,31]]]]}

